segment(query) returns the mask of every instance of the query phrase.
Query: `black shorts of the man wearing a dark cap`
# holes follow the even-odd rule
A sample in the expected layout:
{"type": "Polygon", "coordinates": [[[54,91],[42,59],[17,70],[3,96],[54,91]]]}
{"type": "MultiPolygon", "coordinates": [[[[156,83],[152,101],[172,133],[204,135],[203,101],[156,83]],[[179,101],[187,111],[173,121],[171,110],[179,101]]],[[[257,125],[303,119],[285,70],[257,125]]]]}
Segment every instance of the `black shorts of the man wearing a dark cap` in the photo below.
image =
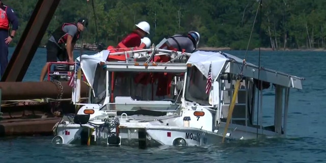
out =
{"type": "Polygon", "coordinates": [[[66,49],[61,49],[56,43],[47,41],[46,44],[46,62],[67,61],[68,54],[66,49]]]}

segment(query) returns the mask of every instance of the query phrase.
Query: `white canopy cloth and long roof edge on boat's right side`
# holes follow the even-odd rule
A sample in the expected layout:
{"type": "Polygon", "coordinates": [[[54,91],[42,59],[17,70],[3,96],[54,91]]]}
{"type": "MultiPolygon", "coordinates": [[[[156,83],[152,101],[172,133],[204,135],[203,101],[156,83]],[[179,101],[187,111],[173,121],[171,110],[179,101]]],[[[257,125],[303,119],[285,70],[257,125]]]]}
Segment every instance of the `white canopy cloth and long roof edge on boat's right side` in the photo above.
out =
{"type": "MultiPolygon", "coordinates": [[[[243,59],[235,57],[225,52],[215,52],[215,51],[196,51],[192,53],[191,57],[187,61],[187,64],[193,64],[202,74],[207,78],[210,64],[212,64],[212,78],[216,79],[226,66],[225,72],[239,74],[241,72],[241,67],[243,59]]],[[[294,75],[286,74],[280,71],[275,71],[267,68],[259,68],[258,66],[246,62],[243,67],[242,75],[247,77],[252,77],[254,79],[259,79],[264,82],[269,82],[284,87],[292,87],[296,89],[302,89],[301,80],[305,78],[297,77],[294,75]],[[258,78],[258,74],[260,74],[258,78]]]]}

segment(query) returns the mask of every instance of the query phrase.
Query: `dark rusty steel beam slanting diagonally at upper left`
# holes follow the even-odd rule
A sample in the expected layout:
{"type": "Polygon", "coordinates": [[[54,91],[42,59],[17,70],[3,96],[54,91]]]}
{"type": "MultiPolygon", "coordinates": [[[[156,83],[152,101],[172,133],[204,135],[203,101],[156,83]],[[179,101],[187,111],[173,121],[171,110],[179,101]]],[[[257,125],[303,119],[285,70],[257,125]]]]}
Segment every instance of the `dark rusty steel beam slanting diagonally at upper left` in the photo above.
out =
{"type": "Polygon", "coordinates": [[[1,82],[21,82],[60,0],[39,0],[9,61],[1,82]]]}

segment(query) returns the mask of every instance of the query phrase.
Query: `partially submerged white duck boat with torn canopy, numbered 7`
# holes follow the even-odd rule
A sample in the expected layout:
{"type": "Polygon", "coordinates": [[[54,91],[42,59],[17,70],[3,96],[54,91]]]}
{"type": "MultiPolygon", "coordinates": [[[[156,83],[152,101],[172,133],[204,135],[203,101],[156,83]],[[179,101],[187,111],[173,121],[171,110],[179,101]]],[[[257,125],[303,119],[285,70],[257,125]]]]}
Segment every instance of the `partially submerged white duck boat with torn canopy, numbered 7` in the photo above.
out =
{"type": "MultiPolygon", "coordinates": [[[[290,89],[302,89],[304,79],[221,51],[103,50],[79,62],[91,86],[89,103],[73,100],[83,106],[54,126],[55,144],[146,148],[284,137],[290,89]],[[118,55],[124,60],[106,61],[118,55]],[[261,91],[272,86],[274,124],[263,126],[261,91]]],[[[78,84],[74,92],[76,99],[78,84]]]]}

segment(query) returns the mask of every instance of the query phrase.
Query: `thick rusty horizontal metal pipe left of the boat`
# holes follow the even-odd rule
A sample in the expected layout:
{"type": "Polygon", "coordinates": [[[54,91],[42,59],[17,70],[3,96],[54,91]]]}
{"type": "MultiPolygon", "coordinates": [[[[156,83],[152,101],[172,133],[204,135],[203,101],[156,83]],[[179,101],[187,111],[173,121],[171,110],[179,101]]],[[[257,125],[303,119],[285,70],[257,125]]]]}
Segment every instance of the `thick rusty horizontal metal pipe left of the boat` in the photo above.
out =
{"type": "MultiPolygon", "coordinates": [[[[68,82],[60,82],[62,98],[71,98],[72,88],[68,82]]],[[[58,98],[61,94],[60,84],[55,82],[0,82],[2,100],[24,100],[35,98],[58,98]]],[[[80,97],[87,97],[89,87],[82,82],[80,97]]]]}

